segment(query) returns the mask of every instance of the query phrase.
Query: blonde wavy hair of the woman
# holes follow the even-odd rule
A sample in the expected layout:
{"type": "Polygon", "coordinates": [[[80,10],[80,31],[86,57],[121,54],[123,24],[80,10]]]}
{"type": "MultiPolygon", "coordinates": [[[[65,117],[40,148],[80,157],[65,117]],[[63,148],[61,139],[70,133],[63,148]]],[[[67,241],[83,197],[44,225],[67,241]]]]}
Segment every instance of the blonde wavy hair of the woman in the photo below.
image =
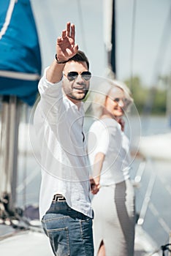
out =
{"type": "Polygon", "coordinates": [[[102,116],[102,111],[104,109],[106,97],[109,96],[110,91],[115,87],[121,89],[125,94],[126,103],[123,107],[124,111],[128,112],[130,106],[134,102],[134,99],[132,98],[132,94],[129,88],[126,86],[125,83],[119,80],[106,79],[103,83],[100,83],[99,85],[96,85],[94,87],[95,88],[91,90],[89,97],[91,98],[94,116],[96,116],[97,118],[102,116]]]}

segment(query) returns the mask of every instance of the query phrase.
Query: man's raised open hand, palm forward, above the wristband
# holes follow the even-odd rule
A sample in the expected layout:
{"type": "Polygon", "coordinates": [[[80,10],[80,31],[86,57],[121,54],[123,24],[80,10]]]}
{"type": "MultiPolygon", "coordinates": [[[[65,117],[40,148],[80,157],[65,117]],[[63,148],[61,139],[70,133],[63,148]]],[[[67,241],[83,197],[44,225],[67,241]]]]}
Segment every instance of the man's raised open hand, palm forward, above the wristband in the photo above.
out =
{"type": "Polygon", "coordinates": [[[58,37],[56,44],[56,58],[59,62],[68,61],[75,56],[78,45],[75,45],[75,25],[66,23],[66,29],[62,31],[61,37],[58,37]]]}

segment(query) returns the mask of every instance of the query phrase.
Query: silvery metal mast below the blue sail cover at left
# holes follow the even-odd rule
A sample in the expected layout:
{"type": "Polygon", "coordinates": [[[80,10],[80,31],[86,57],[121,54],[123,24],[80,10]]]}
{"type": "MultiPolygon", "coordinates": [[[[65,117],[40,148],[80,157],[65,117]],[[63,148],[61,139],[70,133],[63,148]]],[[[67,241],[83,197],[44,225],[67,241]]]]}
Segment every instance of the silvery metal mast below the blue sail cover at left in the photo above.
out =
{"type": "Polygon", "coordinates": [[[1,112],[0,194],[6,200],[9,197],[9,208],[14,208],[16,203],[19,116],[20,104],[17,97],[4,96],[1,112]]]}

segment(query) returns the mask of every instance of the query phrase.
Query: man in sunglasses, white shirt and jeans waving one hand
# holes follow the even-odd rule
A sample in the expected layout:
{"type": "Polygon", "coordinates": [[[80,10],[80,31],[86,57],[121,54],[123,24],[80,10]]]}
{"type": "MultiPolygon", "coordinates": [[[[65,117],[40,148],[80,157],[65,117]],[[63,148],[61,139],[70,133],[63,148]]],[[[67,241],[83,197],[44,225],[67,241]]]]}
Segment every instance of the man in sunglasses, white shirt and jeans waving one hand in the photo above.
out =
{"type": "Polygon", "coordinates": [[[57,39],[54,61],[39,81],[34,115],[42,167],[39,214],[58,256],[94,255],[81,102],[89,89],[88,69],[87,57],[75,44],[75,25],[67,23],[57,39]]]}

